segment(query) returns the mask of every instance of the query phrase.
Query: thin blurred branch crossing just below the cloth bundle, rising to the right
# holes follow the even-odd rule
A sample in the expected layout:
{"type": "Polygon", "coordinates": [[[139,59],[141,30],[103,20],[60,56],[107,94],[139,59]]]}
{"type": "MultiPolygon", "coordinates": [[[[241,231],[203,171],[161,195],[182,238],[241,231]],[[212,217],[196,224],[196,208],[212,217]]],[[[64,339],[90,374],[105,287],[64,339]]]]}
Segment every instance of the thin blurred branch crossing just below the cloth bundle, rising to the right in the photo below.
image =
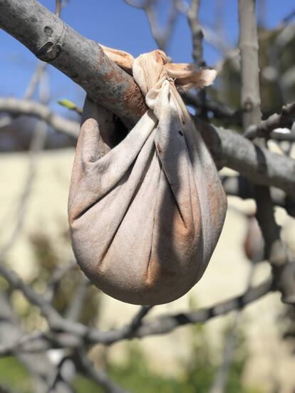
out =
{"type": "MultiPolygon", "coordinates": [[[[126,325],[122,329],[103,332],[79,323],[68,323],[67,320],[60,320],[60,332],[55,332],[54,336],[45,333],[40,333],[39,335],[33,334],[26,337],[25,340],[14,343],[14,345],[3,345],[0,347],[0,357],[7,356],[16,349],[21,352],[38,352],[52,346],[75,348],[81,346],[83,342],[88,344],[100,342],[105,345],[111,345],[114,342],[133,337],[162,335],[172,332],[172,330],[183,325],[190,323],[205,323],[207,320],[225,315],[233,310],[240,310],[249,303],[262,298],[262,296],[266,295],[266,293],[269,293],[271,290],[273,290],[273,283],[272,280],[269,279],[256,287],[248,288],[245,293],[236,298],[225,300],[212,307],[192,311],[190,313],[161,315],[150,322],[140,325],[138,330],[133,331],[132,335],[130,335],[130,325],[133,325],[133,323],[126,325]],[[64,333],[66,333],[66,335],[64,333]]],[[[144,310],[146,311],[146,309],[140,308],[134,320],[139,316],[141,318],[144,310]]]]}

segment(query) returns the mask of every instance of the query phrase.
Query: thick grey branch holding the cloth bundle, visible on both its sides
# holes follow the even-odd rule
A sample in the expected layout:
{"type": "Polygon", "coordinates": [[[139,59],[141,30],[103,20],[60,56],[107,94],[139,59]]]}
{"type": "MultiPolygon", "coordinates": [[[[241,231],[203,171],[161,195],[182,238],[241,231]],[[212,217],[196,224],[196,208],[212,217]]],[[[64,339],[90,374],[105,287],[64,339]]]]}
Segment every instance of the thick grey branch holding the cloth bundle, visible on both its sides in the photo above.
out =
{"type": "MultiPolygon", "coordinates": [[[[143,96],[133,78],[115,66],[97,43],[80,36],[38,1],[27,0],[24,4],[0,0],[0,26],[36,56],[81,85],[90,98],[115,112],[129,126],[145,112],[143,96]]],[[[294,160],[258,149],[236,132],[197,124],[219,164],[295,197],[294,160]]]]}

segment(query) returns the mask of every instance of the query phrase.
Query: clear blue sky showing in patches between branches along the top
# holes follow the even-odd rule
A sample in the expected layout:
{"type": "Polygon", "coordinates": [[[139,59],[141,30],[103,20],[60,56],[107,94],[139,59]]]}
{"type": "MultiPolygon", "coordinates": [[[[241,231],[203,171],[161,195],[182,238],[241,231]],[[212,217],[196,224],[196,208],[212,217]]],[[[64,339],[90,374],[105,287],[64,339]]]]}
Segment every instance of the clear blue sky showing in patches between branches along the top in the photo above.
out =
{"type": "MultiPolygon", "coordinates": [[[[25,1],[25,0],[24,0],[25,1]]],[[[162,1],[162,11],[170,0],[162,1]]],[[[41,0],[41,4],[53,11],[54,0],[41,0]]],[[[217,0],[201,0],[200,21],[213,30],[216,26],[217,0]]],[[[267,27],[276,26],[294,8],[294,0],[264,0],[263,19],[267,27]]],[[[79,33],[106,46],[122,49],[138,56],[156,48],[150,33],[147,17],[143,11],[134,9],[123,0],[70,0],[62,12],[62,19],[79,33]]],[[[234,46],[238,38],[237,0],[224,0],[224,34],[229,46],[234,46]]],[[[26,90],[36,58],[18,41],[0,30],[0,95],[21,98],[26,90]]],[[[180,16],[175,26],[167,53],[173,61],[192,61],[190,31],[185,16],[180,16]]],[[[220,53],[205,43],[205,61],[209,66],[220,58],[220,53]]],[[[51,107],[58,112],[66,109],[56,104],[56,100],[68,98],[77,105],[83,104],[84,93],[65,75],[48,68],[51,85],[51,107]]]]}

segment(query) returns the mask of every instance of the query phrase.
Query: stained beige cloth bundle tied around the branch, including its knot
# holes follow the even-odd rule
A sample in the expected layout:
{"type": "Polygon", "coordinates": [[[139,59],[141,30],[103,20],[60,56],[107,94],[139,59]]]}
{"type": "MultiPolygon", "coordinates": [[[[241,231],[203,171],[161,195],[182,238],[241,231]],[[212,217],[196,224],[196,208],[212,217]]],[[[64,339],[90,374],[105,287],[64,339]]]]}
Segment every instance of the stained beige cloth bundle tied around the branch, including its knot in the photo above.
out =
{"type": "Polygon", "coordinates": [[[113,298],[167,303],[202,277],[227,209],[212,157],[175,87],[207,85],[215,71],[167,63],[162,51],[134,60],[104,50],[125,70],[132,66],[150,109],[105,154],[101,135],[112,125],[86,99],[68,204],[73,251],[113,298]]]}

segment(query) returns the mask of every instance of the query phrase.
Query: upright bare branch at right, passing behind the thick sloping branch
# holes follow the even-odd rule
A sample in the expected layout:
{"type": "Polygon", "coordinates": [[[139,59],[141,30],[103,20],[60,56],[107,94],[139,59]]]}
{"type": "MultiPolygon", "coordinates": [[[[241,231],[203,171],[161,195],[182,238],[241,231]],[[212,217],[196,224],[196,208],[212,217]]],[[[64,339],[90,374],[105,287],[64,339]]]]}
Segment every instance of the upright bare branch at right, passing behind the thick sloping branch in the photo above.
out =
{"type": "MultiPolygon", "coordinates": [[[[261,118],[258,38],[255,1],[239,0],[239,47],[242,56],[242,105],[244,129],[259,125],[261,118]]],[[[291,108],[292,109],[292,108],[291,108]]],[[[295,304],[295,263],[290,263],[274,219],[274,208],[268,187],[256,186],[257,221],[264,237],[265,255],[273,268],[274,280],[285,303],[295,304]],[[287,273],[286,273],[287,272],[287,273]]]]}

